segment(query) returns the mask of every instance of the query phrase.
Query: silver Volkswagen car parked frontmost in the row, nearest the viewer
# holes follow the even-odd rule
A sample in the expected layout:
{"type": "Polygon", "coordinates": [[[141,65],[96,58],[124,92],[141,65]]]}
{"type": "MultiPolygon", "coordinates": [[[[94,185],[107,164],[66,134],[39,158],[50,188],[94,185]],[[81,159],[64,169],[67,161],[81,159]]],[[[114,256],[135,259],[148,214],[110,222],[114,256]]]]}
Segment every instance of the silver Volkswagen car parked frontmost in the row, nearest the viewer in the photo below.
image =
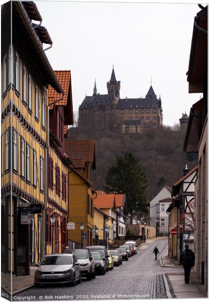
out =
{"type": "Polygon", "coordinates": [[[46,255],[35,271],[34,284],[81,282],[81,268],[75,255],[50,254],[46,255]]]}

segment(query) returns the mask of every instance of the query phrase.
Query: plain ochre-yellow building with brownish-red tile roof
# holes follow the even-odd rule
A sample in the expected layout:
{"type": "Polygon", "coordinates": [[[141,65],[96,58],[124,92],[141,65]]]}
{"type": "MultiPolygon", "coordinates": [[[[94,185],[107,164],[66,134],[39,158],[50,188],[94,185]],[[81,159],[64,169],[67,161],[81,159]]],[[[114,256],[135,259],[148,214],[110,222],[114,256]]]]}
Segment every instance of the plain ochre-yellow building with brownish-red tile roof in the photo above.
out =
{"type": "Polygon", "coordinates": [[[93,193],[92,170],[95,169],[95,147],[93,139],[65,140],[65,153],[73,166],[68,172],[68,222],[74,229],[68,230],[69,247],[92,245],[93,237],[93,193]],[[83,224],[83,230],[80,224],[83,224]]]}

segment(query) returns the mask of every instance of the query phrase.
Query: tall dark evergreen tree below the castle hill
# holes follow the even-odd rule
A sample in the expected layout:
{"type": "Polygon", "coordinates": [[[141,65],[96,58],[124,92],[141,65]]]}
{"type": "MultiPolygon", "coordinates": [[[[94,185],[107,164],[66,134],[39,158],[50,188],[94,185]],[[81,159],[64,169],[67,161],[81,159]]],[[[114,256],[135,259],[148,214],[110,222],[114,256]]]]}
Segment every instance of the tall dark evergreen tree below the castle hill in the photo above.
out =
{"type": "Polygon", "coordinates": [[[136,213],[146,213],[147,180],[140,160],[132,152],[117,155],[116,163],[108,170],[105,177],[105,192],[126,194],[127,210],[132,224],[136,213]]]}

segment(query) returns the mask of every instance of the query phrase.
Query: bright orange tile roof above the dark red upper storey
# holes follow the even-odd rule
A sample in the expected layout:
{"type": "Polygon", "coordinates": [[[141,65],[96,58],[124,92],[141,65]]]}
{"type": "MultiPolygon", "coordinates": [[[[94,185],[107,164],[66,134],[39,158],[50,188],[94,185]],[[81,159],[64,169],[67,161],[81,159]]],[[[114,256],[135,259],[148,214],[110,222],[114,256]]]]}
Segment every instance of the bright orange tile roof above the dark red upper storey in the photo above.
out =
{"type": "MultiPolygon", "coordinates": [[[[56,77],[61,84],[61,87],[64,91],[64,99],[58,103],[57,106],[66,106],[67,105],[67,97],[68,97],[68,90],[70,85],[70,70],[54,70],[56,77]]],[[[48,88],[48,104],[62,98],[62,94],[57,93],[52,86],[48,88]]],[[[53,105],[49,108],[52,109],[53,105]]]]}

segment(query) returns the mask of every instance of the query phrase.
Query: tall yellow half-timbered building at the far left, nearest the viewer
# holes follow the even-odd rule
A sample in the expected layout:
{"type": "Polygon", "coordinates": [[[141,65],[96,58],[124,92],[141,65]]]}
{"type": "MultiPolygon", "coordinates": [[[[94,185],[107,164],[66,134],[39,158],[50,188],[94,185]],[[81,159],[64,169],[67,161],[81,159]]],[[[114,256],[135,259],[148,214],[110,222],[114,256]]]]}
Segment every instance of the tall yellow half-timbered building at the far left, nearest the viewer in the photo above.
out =
{"type": "Polygon", "coordinates": [[[44,52],[52,41],[34,21],[42,18],[33,2],[2,7],[2,270],[16,276],[45,253],[48,85],[63,93],[44,52]]]}

